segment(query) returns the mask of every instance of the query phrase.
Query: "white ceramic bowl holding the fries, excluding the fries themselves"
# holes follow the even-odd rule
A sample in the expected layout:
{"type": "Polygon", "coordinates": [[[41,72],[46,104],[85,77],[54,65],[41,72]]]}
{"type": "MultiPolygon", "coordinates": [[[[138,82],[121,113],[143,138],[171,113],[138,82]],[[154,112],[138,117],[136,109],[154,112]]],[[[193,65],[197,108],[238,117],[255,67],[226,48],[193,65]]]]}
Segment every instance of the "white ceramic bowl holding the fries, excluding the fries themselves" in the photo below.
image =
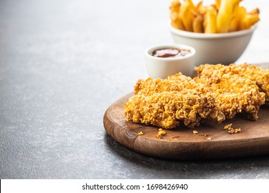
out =
{"type": "Polygon", "coordinates": [[[195,65],[205,63],[228,65],[234,63],[246,50],[256,26],[249,30],[222,34],[202,34],[178,30],[171,25],[170,32],[175,43],[195,48],[195,65]]]}

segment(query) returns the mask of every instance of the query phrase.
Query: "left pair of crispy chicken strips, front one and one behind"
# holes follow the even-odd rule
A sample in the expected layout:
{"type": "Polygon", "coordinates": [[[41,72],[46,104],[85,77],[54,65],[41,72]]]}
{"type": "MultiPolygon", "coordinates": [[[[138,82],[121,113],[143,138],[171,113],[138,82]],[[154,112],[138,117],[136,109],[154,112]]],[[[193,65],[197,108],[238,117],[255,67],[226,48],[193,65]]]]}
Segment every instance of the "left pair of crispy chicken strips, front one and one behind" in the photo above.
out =
{"type": "Polygon", "coordinates": [[[168,79],[140,79],[124,110],[128,121],[167,129],[177,127],[179,121],[193,128],[204,119],[218,123],[225,119],[206,87],[181,73],[168,79]]]}

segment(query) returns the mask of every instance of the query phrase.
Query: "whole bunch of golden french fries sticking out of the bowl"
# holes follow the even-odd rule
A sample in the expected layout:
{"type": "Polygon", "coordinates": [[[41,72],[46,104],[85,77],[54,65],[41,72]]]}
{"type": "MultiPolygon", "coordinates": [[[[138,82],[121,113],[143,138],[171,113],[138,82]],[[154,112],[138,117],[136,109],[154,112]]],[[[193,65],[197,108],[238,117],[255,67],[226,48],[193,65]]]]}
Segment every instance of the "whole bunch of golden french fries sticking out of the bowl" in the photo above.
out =
{"type": "Polygon", "coordinates": [[[170,6],[171,25],[189,32],[226,33],[249,29],[259,19],[259,9],[250,12],[239,6],[243,0],[215,0],[215,4],[197,6],[192,0],[172,0],[170,6]]]}

